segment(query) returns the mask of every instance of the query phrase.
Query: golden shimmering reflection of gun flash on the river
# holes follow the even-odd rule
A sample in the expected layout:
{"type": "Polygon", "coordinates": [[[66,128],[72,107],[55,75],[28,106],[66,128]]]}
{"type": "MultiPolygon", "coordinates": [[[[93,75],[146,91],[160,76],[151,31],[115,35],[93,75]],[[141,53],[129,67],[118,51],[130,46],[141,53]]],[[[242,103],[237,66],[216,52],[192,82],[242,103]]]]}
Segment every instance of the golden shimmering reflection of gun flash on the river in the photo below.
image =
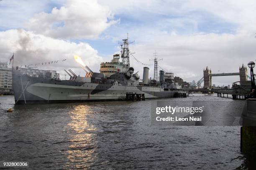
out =
{"type": "Polygon", "coordinates": [[[92,143],[92,133],[96,130],[88,124],[87,116],[92,114],[90,106],[77,105],[69,112],[71,122],[68,123],[74,132],[70,134],[69,150],[67,154],[67,167],[89,168],[93,162],[92,154],[95,146],[92,143]]]}

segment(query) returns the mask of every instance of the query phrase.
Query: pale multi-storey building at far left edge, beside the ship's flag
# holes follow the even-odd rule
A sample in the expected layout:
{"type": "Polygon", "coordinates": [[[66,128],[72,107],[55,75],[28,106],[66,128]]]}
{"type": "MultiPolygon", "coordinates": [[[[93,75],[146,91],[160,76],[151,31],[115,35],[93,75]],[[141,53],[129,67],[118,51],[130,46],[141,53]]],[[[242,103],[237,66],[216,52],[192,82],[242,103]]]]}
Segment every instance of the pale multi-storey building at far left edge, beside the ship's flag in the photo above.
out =
{"type": "Polygon", "coordinates": [[[0,94],[13,94],[12,69],[8,68],[8,62],[0,62],[0,94]]]}

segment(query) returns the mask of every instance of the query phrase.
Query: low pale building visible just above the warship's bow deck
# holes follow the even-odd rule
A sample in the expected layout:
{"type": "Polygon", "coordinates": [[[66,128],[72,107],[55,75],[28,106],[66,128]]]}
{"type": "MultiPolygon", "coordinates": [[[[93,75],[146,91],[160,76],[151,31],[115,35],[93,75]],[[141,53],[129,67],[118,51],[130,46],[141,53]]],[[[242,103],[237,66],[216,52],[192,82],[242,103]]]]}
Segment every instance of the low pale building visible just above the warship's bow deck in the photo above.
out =
{"type": "Polygon", "coordinates": [[[28,75],[30,77],[46,77],[46,78],[53,78],[59,79],[59,73],[55,70],[39,70],[33,67],[23,68],[23,67],[16,67],[16,70],[20,70],[22,75],[28,75]]]}

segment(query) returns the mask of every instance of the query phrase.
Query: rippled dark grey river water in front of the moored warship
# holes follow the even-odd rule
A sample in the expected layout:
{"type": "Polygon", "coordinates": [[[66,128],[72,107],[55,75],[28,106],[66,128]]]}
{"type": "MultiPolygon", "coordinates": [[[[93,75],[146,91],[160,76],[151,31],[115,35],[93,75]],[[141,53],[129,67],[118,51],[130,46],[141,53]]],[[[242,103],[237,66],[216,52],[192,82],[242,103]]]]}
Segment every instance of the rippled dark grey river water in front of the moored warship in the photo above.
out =
{"type": "Polygon", "coordinates": [[[14,108],[0,111],[0,160],[30,169],[246,169],[240,127],[151,126],[151,101],[14,106],[0,96],[14,108]]]}

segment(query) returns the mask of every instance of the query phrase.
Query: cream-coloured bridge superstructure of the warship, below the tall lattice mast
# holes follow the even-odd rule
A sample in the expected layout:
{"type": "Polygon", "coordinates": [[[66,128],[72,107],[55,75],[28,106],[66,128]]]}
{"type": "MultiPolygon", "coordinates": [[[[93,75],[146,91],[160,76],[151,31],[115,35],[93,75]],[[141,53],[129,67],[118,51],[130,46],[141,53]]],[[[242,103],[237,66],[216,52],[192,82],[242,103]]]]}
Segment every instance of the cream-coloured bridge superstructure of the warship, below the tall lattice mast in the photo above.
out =
{"type": "Polygon", "coordinates": [[[100,73],[105,74],[105,77],[110,77],[110,75],[118,72],[127,72],[127,68],[123,66],[123,63],[119,59],[119,54],[115,54],[111,62],[102,62],[100,64],[100,73]]]}

